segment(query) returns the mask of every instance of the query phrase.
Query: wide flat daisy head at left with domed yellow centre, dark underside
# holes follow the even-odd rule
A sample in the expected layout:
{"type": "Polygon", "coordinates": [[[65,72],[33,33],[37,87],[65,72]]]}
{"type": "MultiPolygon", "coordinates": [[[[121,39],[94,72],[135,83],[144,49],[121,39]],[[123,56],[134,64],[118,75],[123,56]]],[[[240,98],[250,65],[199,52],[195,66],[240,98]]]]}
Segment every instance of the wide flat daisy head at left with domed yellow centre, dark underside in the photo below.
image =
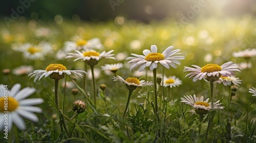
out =
{"type": "Polygon", "coordinates": [[[63,73],[68,75],[73,73],[76,77],[79,75],[81,78],[83,77],[81,73],[87,74],[87,72],[81,70],[67,70],[67,68],[61,64],[50,64],[46,70],[35,70],[28,76],[31,76],[30,78],[35,77],[35,82],[37,79],[40,80],[42,77],[47,77],[49,75],[52,79],[61,79],[65,76],[63,73]]]}

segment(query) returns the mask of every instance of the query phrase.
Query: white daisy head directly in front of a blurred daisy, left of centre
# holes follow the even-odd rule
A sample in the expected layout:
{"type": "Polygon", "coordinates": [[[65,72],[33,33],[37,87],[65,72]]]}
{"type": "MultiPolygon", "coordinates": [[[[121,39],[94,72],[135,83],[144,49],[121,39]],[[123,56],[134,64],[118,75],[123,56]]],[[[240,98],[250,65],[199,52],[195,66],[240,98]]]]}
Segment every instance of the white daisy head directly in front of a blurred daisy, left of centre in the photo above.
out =
{"type": "Polygon", "coordinates": [[[105,59],[114,59],[112,52],[114,50],[110,50],[108,52],[103,51],[101,53],[96,52],[95,50],[87,50],[87,51],[83,51],[82,53],[78,50],[75,50],[77,53],[67,53],[67,57],[66,58],[76,58],[74,61],[77,60],[83,60],[83,61],[87,61],[88,65],[96,65],[98,63],[98,61],[102,58],[105,59]],[[89,62],[90,61],[90,62],[89,62]]]}

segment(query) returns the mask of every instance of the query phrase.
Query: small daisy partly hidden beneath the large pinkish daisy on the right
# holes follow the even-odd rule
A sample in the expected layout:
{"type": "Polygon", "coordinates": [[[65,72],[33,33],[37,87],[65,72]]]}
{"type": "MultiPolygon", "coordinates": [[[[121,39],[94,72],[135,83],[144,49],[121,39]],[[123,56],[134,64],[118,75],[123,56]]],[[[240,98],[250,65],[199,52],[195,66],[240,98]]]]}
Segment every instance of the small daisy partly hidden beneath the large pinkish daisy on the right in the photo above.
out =
{"type": "Polygon", "coordinates": [[[239,86],[239,84],[242,83],[242,80],[239,78],[236,78],[234,76],[223,76],[222,75],[217,82],[223,83],[225,86],[231,85],[231,84],[239,86]]]}

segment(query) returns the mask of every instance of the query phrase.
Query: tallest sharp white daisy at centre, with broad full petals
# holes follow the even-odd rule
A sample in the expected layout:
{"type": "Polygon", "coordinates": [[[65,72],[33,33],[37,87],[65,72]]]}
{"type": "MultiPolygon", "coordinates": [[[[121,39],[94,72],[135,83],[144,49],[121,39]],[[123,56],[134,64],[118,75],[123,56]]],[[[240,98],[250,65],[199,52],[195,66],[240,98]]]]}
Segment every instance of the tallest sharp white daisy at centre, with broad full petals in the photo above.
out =
{"type": "Polygon", "coordinates": [[[163,65],[165,68],[169,69],[170,66],[173,68],[177,68],[176,64],[180,65],[180,60],[184,60],[184,56],[178,56],[176,54],[180,54],[180,49],[173,50],[174,46],[169,46],[166,48],[163,53],[157,52],[157,46],[151,45],[151,51],[148,49],[143,50],[144,55],[138,55],[132,53],[133,56],[126,58],[126,60],[131,60],[128,63],[132,63],[130,71],[137,66],[139,67],[139,71],[145,69],[145,67],[150,67],[150,70],[154,70],[157,68],[158,63],[163,65]],[[176,55],[176,56],[174,56],[176,55]]]}

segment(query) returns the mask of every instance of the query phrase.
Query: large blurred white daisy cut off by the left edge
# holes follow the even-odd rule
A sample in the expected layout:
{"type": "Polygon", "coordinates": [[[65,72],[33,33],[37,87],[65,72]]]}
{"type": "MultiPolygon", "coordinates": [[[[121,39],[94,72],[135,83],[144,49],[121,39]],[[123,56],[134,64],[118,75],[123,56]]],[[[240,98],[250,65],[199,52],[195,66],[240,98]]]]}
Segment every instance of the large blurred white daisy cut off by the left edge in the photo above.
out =
{"type": "Polygon", "coordinates": [[[20,90],[21,85],[16,83],[13,85],[11,90],[7,90],[7,85],[0,85],[0,129],[3,130],[6,127],[4,124],[6,121],[5,117],[8,116],[8,130],[12,129],[13,123],[18,127],[20,130],[26,129],[26,124],[22,117],[29,119],[33,122],[38,122],[38,117],[33,112],[40,113],[42,111],[41,108],[32,106],[38,105],[44,102],[41,98],[30,98],[25,99],[31,94],[33,94],[36,89],[34,88],[24,88],[20,90]],[[19,91],[20,90],[20,91],[19,91]],[[4,94],[5,93],[5,94],[4,94]],[[6,97],[8,95],[8,97],[6,97]],[[4,102],[8,98],[8,108],[4,107],[4,102]]]}

